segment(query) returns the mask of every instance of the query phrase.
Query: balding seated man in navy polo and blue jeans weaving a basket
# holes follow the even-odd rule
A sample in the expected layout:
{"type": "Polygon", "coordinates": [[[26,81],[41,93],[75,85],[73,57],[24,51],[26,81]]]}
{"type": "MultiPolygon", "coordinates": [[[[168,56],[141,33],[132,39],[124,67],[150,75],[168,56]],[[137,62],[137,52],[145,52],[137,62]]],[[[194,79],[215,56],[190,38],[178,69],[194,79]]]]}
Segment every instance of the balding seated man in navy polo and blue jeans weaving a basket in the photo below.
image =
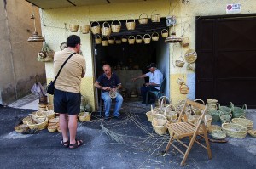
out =
{"type": "MultiPolygon", "coordinates": [[[[94,87],[102,90],[102,99],[104,100],[105,107],[105,120],[109,119],[109,111],[111,107],[112,99],[109,96],[109,91],[117,92],[122,86],[119,77],[112,73],[110,65],[103,65],[104,73],[98,77],[94,83],[94,87]]],[[[121,109],[123,103],[123,97],[117,92],[115,98],[116,104],[113,112],[113,116],[120,119],[119,110],[121,109]]]]}

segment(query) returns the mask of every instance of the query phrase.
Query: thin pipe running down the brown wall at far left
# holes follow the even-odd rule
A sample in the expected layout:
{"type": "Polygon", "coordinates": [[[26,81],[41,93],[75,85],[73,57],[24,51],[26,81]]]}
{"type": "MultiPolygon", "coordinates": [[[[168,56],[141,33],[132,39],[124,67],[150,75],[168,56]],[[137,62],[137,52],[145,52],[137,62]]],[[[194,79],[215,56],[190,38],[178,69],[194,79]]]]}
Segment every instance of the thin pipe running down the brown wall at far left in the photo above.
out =
{"type": "Polygon", "coordinates": [[[4,3],[4,11],[5,11],[5,20],[6,20],[6,28],[7,28],[7,35],[9,37],[9,50],[10,50],[10,59],[11,59],[11,64],[12,64],[12,70],[13,70],[13,77],[14,77],[14,82],[15,82],[15,94],[16,94],[16,99],[18,99],[18,93],[17,93],[17,83],[16,83],[16,75],[15,75],[15,66],[14,66],[14,54],[13,54],[13,48],[11,44],[11,38],[9,34],[9,24],[8,24],[8,15],[7,15],[7,9],[6,9],[6,0],[3,0],[4,3]]]}

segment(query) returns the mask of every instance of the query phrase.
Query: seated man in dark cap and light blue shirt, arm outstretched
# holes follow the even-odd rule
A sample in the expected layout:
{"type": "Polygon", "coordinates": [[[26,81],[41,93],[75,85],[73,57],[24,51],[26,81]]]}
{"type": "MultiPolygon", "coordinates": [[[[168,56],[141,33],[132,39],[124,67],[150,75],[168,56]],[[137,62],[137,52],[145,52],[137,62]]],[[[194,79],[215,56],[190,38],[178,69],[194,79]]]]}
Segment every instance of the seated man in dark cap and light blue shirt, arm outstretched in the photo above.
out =
{"type": "Polygon", "coordinates": [[[144,87],[141,87],[141,94],[143,96],[143,104],[146,104],[146,94],[149,90],[151,91],[159,91],[160,90],[160,82],[163,81],[163,74],[156,68],[156,64],[151,63],[147,66],[149,72],[143,74],[142,76],[137,76],[132,79],[132,81],[136,81],[138,78],[149,77],[149,82],[145,83],[144,87]]]}

